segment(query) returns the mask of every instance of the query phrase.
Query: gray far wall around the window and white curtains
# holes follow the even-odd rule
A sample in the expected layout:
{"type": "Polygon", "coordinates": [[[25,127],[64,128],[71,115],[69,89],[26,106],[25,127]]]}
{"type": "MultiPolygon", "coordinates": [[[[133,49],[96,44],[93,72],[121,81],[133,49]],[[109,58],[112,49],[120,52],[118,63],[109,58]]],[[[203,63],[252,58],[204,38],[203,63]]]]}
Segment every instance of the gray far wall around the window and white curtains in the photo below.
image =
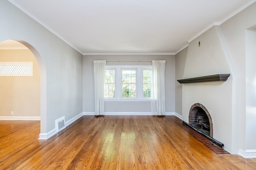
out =
{"type": "MultiPolygon", "coordinates": [[[[85,55],[83,59],[84,77],[84,112],[94,112],[94,60],[136,60],[135,62],[107,62],[108,64],[152,65],[151,62],[137,62],[137,60],[166,60],[165,92],[166,112],[175,111],[175,58],[174,55],[85,55]]],[[[150,101],[105,101],[106,112],[151,112],[150,101]]]]}

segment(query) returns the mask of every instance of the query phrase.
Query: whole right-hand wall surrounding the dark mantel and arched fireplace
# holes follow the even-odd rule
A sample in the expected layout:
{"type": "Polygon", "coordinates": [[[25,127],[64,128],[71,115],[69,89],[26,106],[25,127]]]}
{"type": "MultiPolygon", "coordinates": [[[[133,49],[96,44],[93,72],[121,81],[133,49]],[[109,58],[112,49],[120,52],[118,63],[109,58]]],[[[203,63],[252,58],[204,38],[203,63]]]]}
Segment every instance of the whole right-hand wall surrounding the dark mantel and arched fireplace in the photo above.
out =
{"type": "MultiPolygon", "coordinates": [[[[255,37],[255,18],[256,3],[253,3],[220,26],[208,29],[191,41],[187,55],[184,50],[176,54],[176,70],[184,64],[178,58],[186,58],[183,78],[231,74],[224,83],[182,85],[182,119],[188,121],[192,104],[202,103],[214,115],[214,138],[223,142],[229,152],[244,157],[255,156],[256,153],[256,117],[252,109],[256,106],[254,102],[252,104],[252,94],[256,88],[250,82],[256,71],[252,64],[255,60],[255,48],[250,47],[255,47],[255,39],[252,38],[255,37]]],[[[178,74],[176,73],[176,77],[180,78],[178,74]]],[[[180,95],[177,87],[176,107],[179,107],[180,95]]]]}

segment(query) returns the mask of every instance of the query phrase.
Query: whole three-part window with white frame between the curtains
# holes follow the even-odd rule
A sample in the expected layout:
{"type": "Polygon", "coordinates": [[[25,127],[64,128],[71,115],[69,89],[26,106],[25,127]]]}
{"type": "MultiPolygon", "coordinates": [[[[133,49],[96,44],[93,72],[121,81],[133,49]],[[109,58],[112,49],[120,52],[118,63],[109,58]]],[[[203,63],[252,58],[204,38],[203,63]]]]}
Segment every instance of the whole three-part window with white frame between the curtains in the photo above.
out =
{"type": "Polygon", "coordinates": [[[105,100],[150,100],[152,66],[106,66],[105,100]]]}

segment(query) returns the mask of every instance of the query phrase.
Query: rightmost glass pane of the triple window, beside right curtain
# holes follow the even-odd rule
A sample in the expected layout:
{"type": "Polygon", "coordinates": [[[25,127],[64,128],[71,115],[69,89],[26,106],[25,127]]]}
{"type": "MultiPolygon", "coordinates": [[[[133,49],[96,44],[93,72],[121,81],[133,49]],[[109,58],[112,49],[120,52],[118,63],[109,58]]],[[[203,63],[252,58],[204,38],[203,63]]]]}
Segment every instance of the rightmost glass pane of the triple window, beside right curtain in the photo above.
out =
{"type": "Polygon", "coordinates": [[[152,70],[143,70],[143,97],[151,98],[152,70]]]}

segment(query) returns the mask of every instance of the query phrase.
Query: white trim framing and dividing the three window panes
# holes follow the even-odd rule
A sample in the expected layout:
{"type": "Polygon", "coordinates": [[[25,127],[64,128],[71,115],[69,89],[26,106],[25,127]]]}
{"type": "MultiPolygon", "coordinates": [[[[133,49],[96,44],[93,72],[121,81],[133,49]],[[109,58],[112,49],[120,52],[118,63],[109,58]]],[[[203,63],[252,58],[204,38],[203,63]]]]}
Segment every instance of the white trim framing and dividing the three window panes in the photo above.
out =
{"type": "Polygon", "coordinates": [[[115,97],[105,101],[149,101],[143,97],[143,70],[152,70],[152,65],[106,65],[106,69],[115,70],[115,97]],[[136,70],[136,98],[122,98],[122,69],[136,70]]]}

